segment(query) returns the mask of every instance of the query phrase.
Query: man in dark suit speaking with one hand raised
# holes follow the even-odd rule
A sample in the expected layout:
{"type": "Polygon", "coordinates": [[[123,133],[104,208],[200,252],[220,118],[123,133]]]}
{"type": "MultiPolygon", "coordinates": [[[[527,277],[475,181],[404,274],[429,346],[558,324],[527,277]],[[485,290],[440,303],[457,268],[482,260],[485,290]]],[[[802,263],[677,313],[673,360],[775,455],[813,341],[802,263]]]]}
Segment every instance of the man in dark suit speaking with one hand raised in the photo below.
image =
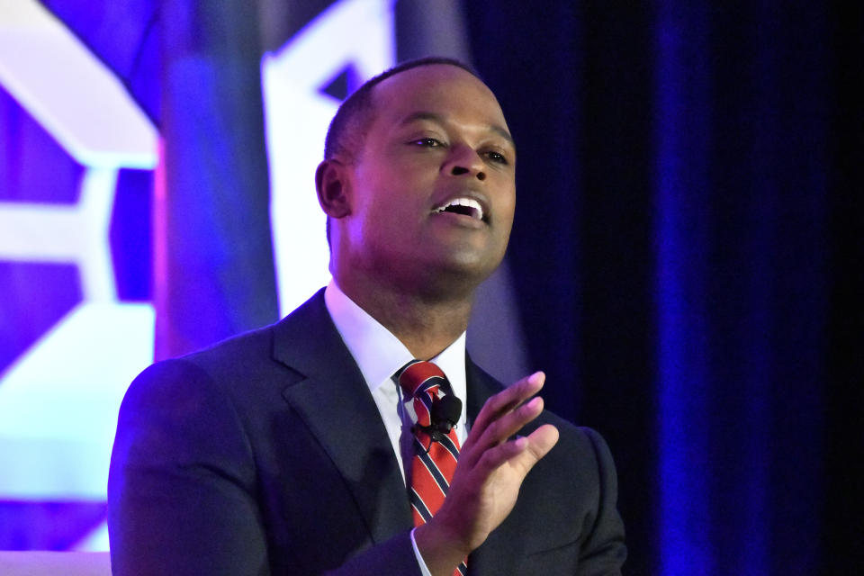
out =
{"type": "Polygon", "coordinates": [[[503,389],[464,353],[500,264],[516,151],[457,62],[370,81],[316,173],[333,282],[286,319],[148,368],[109,479],[115,574],[617,574],[617,486],[594,432],[503,389]],[[412,422],[392,379],[434,359],[465,406],[443,505],[412,530],[412,422]]]}

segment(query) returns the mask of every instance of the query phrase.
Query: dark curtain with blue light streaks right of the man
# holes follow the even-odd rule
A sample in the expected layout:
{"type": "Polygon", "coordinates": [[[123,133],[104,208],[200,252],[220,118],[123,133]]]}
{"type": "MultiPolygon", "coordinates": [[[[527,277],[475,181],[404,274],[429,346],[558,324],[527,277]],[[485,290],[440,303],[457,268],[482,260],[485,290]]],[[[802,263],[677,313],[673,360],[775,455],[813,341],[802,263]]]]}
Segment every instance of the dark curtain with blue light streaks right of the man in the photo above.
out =
{"type": "Polygon", "coordinates": [[[860,7],[464,8],[530,359],[616,455],[626,572],[860,569],[860,7]]]}

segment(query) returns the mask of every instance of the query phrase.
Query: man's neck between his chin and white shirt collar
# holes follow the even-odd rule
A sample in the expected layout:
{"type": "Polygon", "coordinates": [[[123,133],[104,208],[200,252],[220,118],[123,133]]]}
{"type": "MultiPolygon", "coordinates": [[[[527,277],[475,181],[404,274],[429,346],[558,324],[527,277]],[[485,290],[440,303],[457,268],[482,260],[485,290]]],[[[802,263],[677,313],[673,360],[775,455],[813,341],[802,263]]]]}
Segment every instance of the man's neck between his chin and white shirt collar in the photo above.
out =
{"type": "Polygon", "coordinates": [[[339,288],[360,308],[391,331],[412,356],[437,356],[468,328],[473,292],[468,294],[407,293],[356,278],[337,278],[339,288]]]}

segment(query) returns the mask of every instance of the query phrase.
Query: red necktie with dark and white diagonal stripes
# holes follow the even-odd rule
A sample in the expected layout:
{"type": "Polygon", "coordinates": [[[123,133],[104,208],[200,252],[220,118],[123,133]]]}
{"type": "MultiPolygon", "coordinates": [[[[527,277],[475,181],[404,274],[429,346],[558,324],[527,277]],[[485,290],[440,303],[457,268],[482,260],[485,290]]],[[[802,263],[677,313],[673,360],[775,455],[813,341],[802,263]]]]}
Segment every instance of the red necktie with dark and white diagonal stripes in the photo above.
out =
{"type": "MultiPolygon", "coordinates": [[[[397,377],[405,394],[414,399],[417,414],[412,440],[414,455],[407,472],[414,526],[418,527],[426,524],[444,503],[459,459],[459,438],[455,429],[444,434],[427,428],[432,425],[433,403],[439,400],[442,388],[450,389],[446,376],[437,365],[414,360],[402,368],[397,377]]],[[[453,574],[464,576],[465,572],[467,567],[463,562],[453,574]]]]}

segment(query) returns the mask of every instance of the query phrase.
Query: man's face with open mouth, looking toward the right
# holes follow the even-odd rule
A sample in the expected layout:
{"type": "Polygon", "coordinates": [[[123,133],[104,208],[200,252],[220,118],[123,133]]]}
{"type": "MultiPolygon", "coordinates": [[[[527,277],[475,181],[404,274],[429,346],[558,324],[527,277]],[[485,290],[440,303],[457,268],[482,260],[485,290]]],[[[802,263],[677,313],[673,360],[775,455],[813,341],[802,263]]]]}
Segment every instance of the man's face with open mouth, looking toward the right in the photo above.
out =
{"type": "Polygon", "coordinates": [[[348,266],[414,290],[479,284],[504,256],[516,202],[495,96],[459,67],[430,65],[376,85],[373,101],[349,170],[348,266]]]}

